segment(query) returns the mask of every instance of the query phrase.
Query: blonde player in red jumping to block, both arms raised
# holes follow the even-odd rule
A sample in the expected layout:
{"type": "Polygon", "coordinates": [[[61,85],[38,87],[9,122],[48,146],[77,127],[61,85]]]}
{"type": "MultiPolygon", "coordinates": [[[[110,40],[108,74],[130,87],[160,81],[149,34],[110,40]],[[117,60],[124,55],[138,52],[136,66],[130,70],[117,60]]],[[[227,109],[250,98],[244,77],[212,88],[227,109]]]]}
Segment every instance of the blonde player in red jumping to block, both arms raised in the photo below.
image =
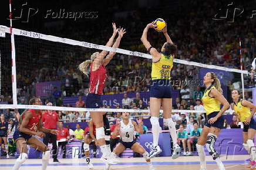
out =
{"type": "MultiPolygon", "coordinates": [[[[113,26],[113,35],[107,42],[106,46],[113,48],[119,47],[120,40],[122,39],[125,29],[116,28],[116,25],[112,23],[113,26]],[[118,37],[116,42],[114,42],[114,37],[118,33],[118,37]]],[[[103,50],[102,52],[93,53],[90,56],[90,60],[86,60],[85,62],[79,64],[79,70],[88,76],[87,69],[90,66],[90,92],[86,98],[86,107],[87,108],[100,108],[102,107],[101,95],[103,93],[103,89],[105,87],[106,80],[106,66],[113,58],[116,52],[107,52],[103,50]],[[109,53],[109,55],[107,55],[109,53]]],[[[116,164],[115,158],[110,157],[111,151],[110,148],[107,147],[105,142],[105,131],[103,127],[103,117],[102,115],[105,112],[91,111],[90,115],[92,116],[93,124],[96,125],[96,139],[99,143],[100,150],[102,151],[102,160],[107,164],[116,164]]]]}

